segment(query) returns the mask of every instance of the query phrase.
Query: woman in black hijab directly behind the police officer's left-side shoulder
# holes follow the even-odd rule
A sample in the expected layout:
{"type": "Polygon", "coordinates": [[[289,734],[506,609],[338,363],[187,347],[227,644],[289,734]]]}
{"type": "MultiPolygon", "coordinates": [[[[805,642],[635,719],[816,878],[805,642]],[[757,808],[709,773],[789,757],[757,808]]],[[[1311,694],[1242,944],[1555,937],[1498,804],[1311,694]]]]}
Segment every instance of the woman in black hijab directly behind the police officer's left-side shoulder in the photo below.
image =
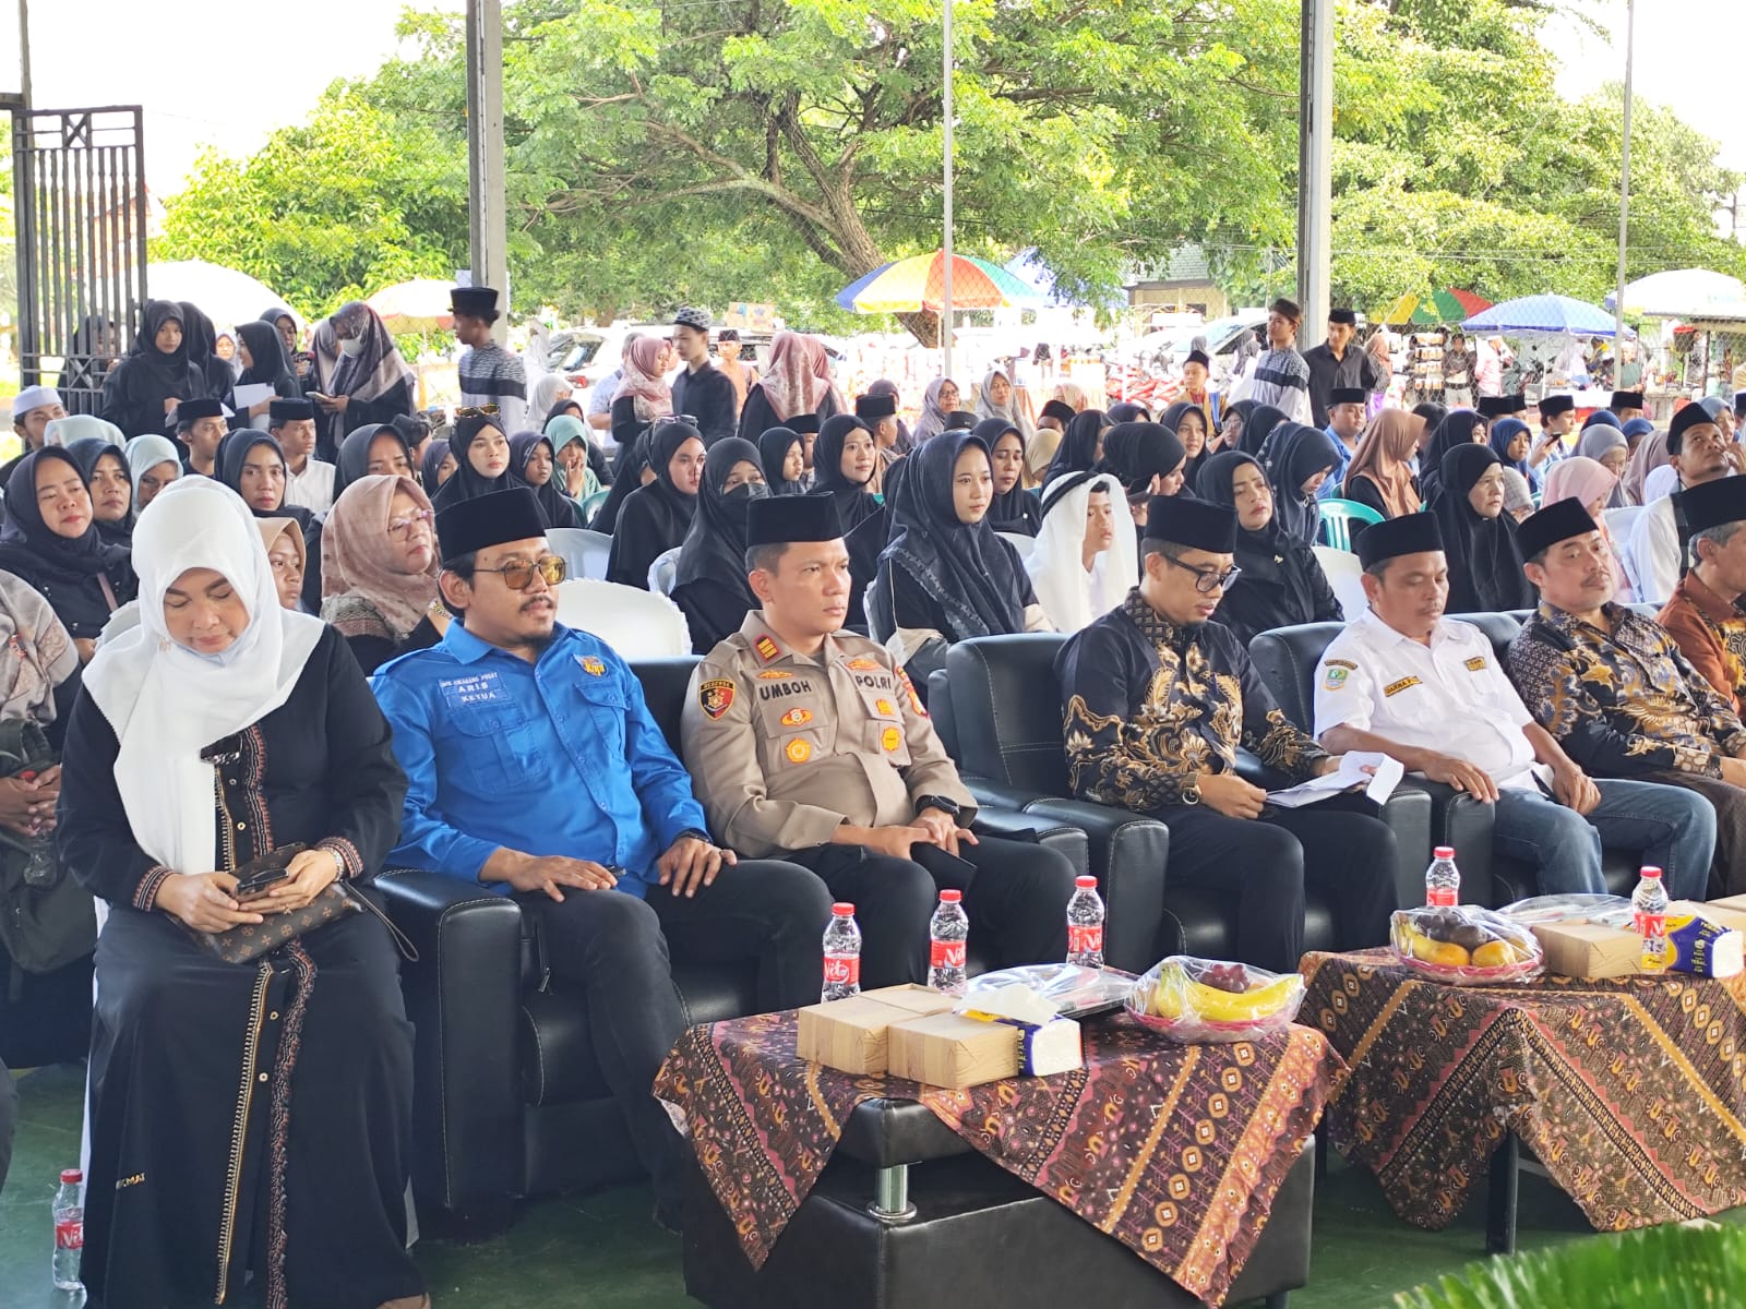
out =
{"type": "Polygon", "coordinates": [[[746,614],[758,607],[746,581],[746,524],[747,506],[768,494],[756,445],[726,436],[709,447],[672,586],[672,602],[684,613],[698,654],[739,632],[746,614]]]}

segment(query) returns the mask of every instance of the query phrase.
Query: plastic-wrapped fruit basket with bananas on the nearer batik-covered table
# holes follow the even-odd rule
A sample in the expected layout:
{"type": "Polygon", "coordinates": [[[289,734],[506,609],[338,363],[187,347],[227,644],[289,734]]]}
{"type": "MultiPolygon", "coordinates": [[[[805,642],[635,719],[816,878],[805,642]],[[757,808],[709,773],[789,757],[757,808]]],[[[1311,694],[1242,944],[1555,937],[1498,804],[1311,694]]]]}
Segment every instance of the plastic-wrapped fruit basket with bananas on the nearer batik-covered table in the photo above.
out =
{"type": "Polygon", "coordinates": [[[1304,979],[1247,963],[1172,955],[1128,991],[1135,1021],[1182,1044],[1254,1040],[1283,1031],[1304,1002],[1304,979]]]}

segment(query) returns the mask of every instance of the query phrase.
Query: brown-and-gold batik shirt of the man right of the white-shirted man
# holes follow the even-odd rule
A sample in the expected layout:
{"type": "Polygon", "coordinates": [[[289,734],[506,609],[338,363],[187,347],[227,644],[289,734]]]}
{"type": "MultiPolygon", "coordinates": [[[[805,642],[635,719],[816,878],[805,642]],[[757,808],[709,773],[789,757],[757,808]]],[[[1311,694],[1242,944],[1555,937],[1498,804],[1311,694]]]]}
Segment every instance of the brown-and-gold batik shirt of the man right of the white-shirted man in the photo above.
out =
{"type": "Polygon", "coordinates": [[[1510,644],[1523,703],[1596,777],[1722,777],[1746,728],[1662,627],[1617,604],[1612,632],[1542,604],[1510,644]]]}

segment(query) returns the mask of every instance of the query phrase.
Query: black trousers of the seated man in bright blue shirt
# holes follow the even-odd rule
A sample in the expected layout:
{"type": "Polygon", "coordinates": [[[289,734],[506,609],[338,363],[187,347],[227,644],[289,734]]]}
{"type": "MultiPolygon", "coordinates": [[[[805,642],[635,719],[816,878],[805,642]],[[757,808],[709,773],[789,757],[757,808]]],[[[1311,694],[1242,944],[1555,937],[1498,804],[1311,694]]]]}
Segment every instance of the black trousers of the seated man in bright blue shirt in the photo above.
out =
{"type": "Polygon", "coordinates": [[[594,1052],[630,1124],[662,1208],[677,1204],[683,1141],[650,1089],[684,1031],[670,958],[758,965],[758,1009],[819,1002],[831,894],[812,873],[775,860],[723,867],[695,895],[651,887],[519,897],[540,922],[552,972],[583,988],[594,1052]]]}

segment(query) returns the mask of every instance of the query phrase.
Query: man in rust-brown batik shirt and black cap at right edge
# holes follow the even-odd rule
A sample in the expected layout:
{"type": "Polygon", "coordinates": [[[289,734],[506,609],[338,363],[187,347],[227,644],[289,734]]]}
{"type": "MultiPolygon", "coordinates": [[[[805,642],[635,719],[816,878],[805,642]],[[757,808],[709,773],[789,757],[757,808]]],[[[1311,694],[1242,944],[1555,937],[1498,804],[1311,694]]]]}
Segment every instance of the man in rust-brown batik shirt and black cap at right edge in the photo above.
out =
{"type": "Polygon", "coordinates": [[[1746,707],[1746,476],[1723,476],[1673,494],[1692,534],[1692,567],[1657,621],[1692,667],[1739,714],[1746,707]]]}

